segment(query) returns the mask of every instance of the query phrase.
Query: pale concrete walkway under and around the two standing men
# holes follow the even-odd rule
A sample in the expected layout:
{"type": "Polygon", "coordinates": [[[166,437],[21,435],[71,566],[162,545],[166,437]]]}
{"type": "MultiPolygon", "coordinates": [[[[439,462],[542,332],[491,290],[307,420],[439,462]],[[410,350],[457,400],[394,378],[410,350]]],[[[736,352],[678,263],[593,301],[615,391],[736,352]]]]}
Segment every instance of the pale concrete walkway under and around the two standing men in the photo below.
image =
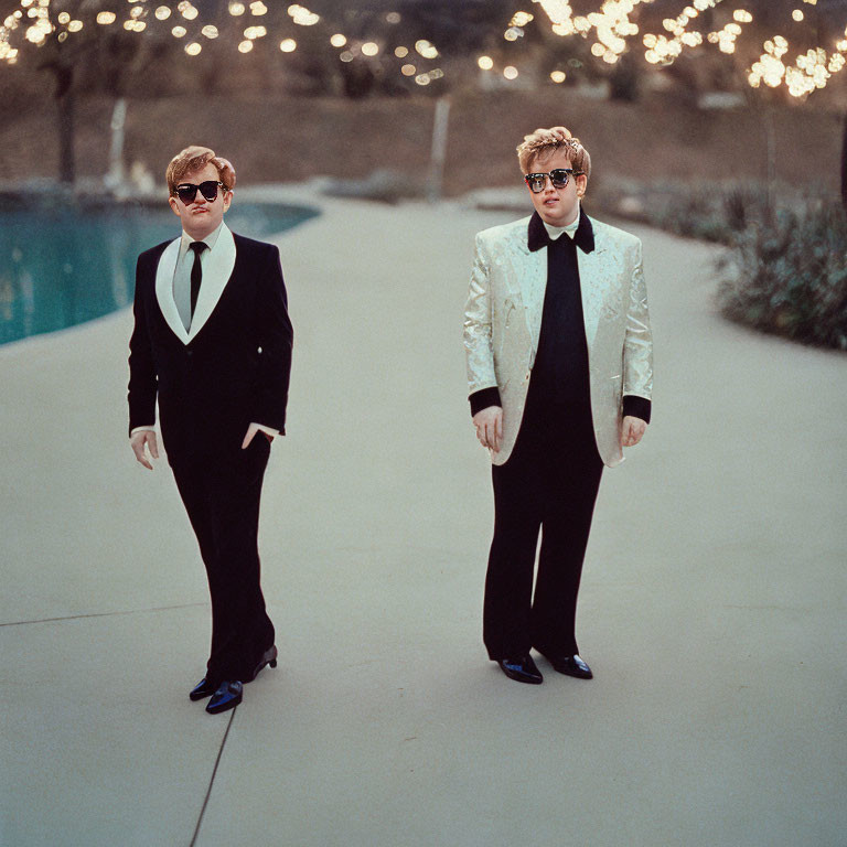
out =
{"type": "Polygon", "coordinates": [[[280,664],[189,701],[205,577],[126,439],[129,311],[0,349],[0,843],[844,847],[847,357],[715,312],[716,248],[632,227],[655,421],[601,486],[596,679],[507,680],[465,400],[458,205],[321,201],[278,239],[296,328],[262,503],[280,664]],[[193,840],[194,839],[194,840],[193,840]]]}

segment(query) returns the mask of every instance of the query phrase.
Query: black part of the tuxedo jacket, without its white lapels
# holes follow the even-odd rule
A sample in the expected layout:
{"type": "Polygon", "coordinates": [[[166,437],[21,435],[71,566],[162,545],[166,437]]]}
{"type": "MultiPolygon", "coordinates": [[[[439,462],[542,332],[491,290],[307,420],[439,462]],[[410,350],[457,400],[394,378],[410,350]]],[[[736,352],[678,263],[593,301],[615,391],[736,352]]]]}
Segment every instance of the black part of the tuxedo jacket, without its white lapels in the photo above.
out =
{"type": "Polygon", "coordinates": [[[164,242],[138,257],[129,342],[129,429],[156,420],[170,459],[240,449],[251,422],[285,432],[293,331],[279,249],[234,234],[221,299],[184,344],[162,315],[156,272],[164,242]]]}

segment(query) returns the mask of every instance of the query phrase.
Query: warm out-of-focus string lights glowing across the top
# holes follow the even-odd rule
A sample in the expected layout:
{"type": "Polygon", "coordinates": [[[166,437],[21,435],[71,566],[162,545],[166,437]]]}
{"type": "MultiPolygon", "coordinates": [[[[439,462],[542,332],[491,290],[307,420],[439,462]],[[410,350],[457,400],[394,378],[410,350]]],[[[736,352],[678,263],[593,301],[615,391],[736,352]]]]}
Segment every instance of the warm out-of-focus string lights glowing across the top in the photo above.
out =
{"type": "MultiPolygon", "coordinates": [[[[127,2],[131,8],[127,12],[127,20],[122,21],[121,25],[127,31],[137,33],[147,29],[148,15],[151,21],[153,19],[165,21],[175,12],[185,21],[194,21],[201,18],[200,9],[203,7],[202,3],[194,6],[191,0],[180,0],[173,8],[167,4],[153,8],[152,1],[148,6],[148,0],[127,0],[127,2]]],[[[630,46],[633,36],[640,33],[640,28],[633,20],[634,14],[640,11],[640,7],[651,6],[654,2],[656,0],[596,0],[599,8],[582,14],[575,14],[570,0],[532,0],[530,8],[540,7],[555,34],[579,35],[589,41],[589,50],[594,57],[607,64],[615,64],[630,46]]],[[[679,0],[680,4],[677,7],[679,11],[675,17],[672,17],[673,9],[669,10],[668,17],[662,22],[661,30],[647,32],[641,36],[645,50],[644,56],[648,63],[669,64],[686,49],[699,47],[705,42],[717,46],[722,53],[732,54],[736,52],[739,37],[753,21],[753,14],[750,11],[736,8],[731,12],[730,20],[720,30],[704,33],[696,25],[701,12],[715,9],[726,0],[688,0],[687,6],[682,6],[683,2],[685,0],[679,0]]],[[[790,12],[791,18],[786,15],[786,22],[802,24],[806,20],[804,7],[815,7],[817,0],[795,0],[794,6],[795,8],[790,12]]],[[[8,14],[0,25],[0,62],[14,64],[18,61],[19,49],[13,46],[13,37],[28,44],[42,46],[51,37],[64,42],[72,34],[83,30],[84,20],[74,19],[64,10],[57,12],[52,20],[50,7],[51,0],[19,0],[19,8],[8,14]]],[[[228,0],[226,8],[233,17],[244,15],[247,12],[253,17],[268,13],[268,4],[262,0],[251,2],[228,0]]],[[[312,26],[321,21],[319,14],[300,3],[288,6],[287,13],[299,26],[312,26]]],[[[117,14],[114,11],[103,10],[90,14],[92,21],[104,26],[117,21],[117,14]]],[[[390,24],[399,23],[401,20],[398,12],[387,12],[379,18],[390,24]]],[[[525,28],[534,21],[537,25],[537,15],[533,12],[521,9],[515,11],[503,33],[505,41],[510,43],[519,41],[525,34],[525,28]]],[[[182,39],[187,31],[184,26],[176,25],[171,29],[171,34],[173,37],[182,39]]],[[[201,29],[201,34],[205,39],[213,40],[218,37],[219,32],[215,25],[205,24],[201,29]]],[[[250,52],[254,42],[267,34],[268,30],[265,26],[246,28],[243,40],[237,44],[238,51],[250,52]]],[[[337,49],[345,47],[349,43],[347,37],[337,32],[329,37],[329,42],[337,49]]],[[[183,49],[187,55],[195,56],[203,47],[201,41],[192,41],[183,49]]],[[[286,37],[280,41],[279,49],[283,53],[293,52],[297,49],[297,42],[286,37]]],[[[351,62],[360,54],[367,57],[378,56],[384,50],[387,51],[390,47],[380,46],[376,41],[365,41],[361,46],[344,50],[339,57],[343,62],[351,62]]],[[[407,60],[415,54],[422,60],[435,60],[439,56],[438,49],[426,39],[418,39],[414,51],[412,53],[409,47],[400,45],[395,47],[393,53],[399,60],[407,60]]],[[[826,87],[832,76],[847,66],[847,30],[834,46],[806,50],[804,53],[798,53],[793,61],[787,57],[787,53],[789,42],[784,35],[774,35],[765,41],[758,60],[747,72],[748,84],[757,88],[784,86],[793,97],[806,96],[826,87]]],[[[482,71],[494,69],[494,60],[487,55],[479,56],[476,64],[482,71]]],[[[408,61],[401,65],[400,73],[414,77],[418,85],[429,85],[432,81],[443,77],[441,68],[419,71],[408,61]]],[[[510,81],[518,77],[518,69],[514,65],[506,65],[502,73],[510,81]]],[[[561,84],[566,78],[566,73],[560,69],[553,71],[549,75],[549,79],[555,84],[561,84]]]]}

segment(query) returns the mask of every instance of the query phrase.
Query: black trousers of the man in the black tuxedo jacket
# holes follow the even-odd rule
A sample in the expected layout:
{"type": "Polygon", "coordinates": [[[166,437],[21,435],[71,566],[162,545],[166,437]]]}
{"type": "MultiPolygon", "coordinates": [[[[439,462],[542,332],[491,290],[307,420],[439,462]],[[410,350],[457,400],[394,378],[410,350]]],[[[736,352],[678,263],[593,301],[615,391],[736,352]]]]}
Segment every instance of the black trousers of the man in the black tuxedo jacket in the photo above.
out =
{"type": "Polygon", "coordinates": [[[170,458],[206,566],[212,597],[212,648],[206,678],[249,678],[274,644],[265,610],[258,550],[259,501],[270,454],[258,432],[246,450],[170,458]]]}

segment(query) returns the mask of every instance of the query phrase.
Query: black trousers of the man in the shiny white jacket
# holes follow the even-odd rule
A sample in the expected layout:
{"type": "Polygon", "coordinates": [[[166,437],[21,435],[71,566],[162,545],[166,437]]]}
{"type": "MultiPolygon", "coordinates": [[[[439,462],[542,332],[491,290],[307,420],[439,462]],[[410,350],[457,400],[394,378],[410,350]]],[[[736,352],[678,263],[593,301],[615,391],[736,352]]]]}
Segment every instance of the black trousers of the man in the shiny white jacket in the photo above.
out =
{"type": "Polygon", "coordinates": [[[530,385],[512,455],[492,465],[494,539],[483,609],[492,660],[530,647],[548,655],[579,652],[577,594],[602,470],[588,399],[557,407],[530,385]]]}

